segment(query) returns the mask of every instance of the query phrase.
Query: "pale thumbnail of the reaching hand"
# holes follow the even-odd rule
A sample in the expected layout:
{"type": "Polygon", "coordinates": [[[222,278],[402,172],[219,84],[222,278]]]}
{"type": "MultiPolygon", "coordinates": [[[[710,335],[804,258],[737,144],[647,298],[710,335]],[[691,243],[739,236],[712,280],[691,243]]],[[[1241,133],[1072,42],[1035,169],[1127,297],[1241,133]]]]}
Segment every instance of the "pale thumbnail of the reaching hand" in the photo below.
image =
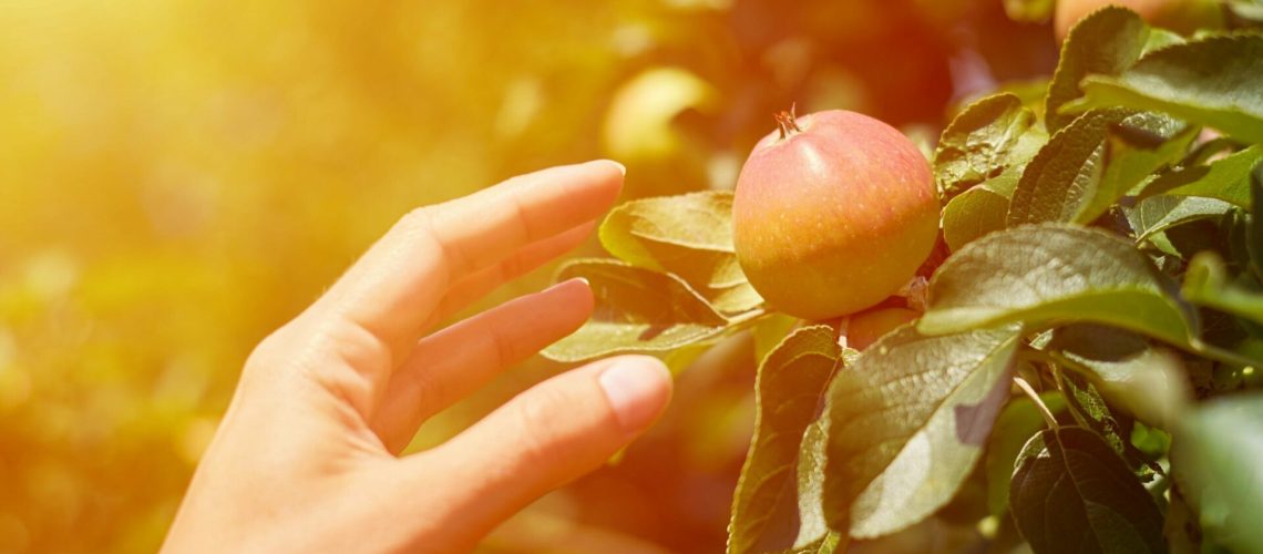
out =
{"type": "Polygon", "coordinates": [[[601,389],[628,434],[649,427],[671,398],[671,372],[657,358],[624,356],[601,371],[601,389]]]}

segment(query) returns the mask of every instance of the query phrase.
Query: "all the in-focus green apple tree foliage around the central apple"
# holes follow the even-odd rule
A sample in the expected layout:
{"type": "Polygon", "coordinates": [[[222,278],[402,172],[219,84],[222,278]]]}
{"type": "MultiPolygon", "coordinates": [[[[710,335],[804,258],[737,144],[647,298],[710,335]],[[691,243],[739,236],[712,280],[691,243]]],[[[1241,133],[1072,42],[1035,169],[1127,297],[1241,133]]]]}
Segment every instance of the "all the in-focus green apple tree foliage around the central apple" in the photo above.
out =
{"type": "MultiPolygon", "coordinates": [[[[1185,39],[1110,8],[1063,44],[1045,120],[1012,93],[961,110],[933,154],[950,255],[925,314],[863,353],[839,346],[845,319],[805,322],[762,358],[729,551],[844,550],[967,502],[1037,553],[1260,548],[1260,61],[1263,35],[1185,39]]],[[[725,198],[616,211],[601,240],[628,265],[609,268],[679,302],[662,334],[605,302],[578,336],[620,331],[562,357],[659,351],[705,303],[683,342],[777,317],[719,300],[745,289],[725,198]]]]}

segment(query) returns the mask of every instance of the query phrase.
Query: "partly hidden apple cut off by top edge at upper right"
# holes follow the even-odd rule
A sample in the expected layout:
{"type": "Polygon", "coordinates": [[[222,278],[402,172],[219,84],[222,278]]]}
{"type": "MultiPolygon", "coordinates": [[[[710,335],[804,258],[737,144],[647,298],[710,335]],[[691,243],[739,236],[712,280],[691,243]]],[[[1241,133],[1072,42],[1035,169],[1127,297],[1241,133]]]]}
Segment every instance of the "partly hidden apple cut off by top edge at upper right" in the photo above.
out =
{"type": "Polygon", "coordinates": [[[1053,13],[1057,42],[1065,40],[1080,19],[1108,5],[1128,8],[1151,25],[1180,34],[1224,27],[1224,13],[1215,0],[1057,0],[1053,13]]]}

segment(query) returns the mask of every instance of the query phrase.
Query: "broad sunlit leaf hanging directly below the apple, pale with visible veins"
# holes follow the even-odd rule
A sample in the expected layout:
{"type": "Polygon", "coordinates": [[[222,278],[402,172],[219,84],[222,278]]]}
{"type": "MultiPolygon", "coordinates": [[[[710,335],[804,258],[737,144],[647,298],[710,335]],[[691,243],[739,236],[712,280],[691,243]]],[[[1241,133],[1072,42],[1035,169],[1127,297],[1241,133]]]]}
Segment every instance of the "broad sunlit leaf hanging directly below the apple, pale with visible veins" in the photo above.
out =
{"type": "Polygon", "coordinates": [[[902,327],[829,389],[825,514],[855,538],[887,535],[946,505],[1008,398],[1017,327],[925,337],[902,327]]]}

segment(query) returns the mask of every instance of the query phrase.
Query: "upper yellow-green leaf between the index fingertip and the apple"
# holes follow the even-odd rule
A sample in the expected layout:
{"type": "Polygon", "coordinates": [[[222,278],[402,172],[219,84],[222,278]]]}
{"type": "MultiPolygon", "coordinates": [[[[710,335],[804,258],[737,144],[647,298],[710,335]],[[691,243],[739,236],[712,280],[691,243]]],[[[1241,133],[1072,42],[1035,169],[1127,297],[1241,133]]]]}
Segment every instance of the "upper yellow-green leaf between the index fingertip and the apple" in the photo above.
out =
{"type": "Polygon", "coordinates": [[[746,312],[763,299],[736,262],[731,216],[731,192],[632,201],[601,223],[601,245],[632,265],[683,278],[720,312],[746,312]]]}

